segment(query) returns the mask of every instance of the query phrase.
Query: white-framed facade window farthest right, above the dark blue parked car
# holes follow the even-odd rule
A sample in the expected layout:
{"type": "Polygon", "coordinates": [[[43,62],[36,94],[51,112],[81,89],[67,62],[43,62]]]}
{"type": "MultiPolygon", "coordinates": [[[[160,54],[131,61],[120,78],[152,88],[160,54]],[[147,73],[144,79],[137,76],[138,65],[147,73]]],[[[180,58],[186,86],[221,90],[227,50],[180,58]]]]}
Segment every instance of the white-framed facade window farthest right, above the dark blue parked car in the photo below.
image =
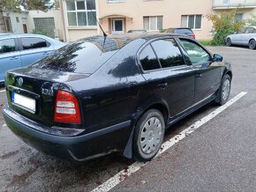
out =
{"type": "Polygon", "coordinates": [[[182,15],[181,26],[190,27],[192,29],[201,28],[202,15],[182,15]]]}

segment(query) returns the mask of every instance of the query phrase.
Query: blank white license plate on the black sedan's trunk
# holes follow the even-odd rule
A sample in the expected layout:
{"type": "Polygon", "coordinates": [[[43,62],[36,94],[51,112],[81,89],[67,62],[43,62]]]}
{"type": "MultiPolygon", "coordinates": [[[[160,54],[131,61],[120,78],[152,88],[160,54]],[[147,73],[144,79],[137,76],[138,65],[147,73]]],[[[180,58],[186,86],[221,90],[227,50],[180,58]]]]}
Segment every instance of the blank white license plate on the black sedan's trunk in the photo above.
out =
{"type": "Polygon", "coordinates": [[[35,112],[35,100],[28,98],[26,96],[20,95],[16,92],[13,92],[12,102],[19,105],[20,107],[24,107],[28,109],[30,112],[35,112]]]}

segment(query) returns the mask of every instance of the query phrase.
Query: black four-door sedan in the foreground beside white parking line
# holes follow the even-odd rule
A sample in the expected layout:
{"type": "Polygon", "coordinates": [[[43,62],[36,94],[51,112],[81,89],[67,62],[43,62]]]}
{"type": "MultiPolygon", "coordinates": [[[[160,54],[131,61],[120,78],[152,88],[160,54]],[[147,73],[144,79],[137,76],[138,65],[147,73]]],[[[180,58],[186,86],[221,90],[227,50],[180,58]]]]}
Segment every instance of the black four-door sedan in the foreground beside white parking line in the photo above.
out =
{"type": "Polygon", "coordinates": [[[230,63],[184,35],[94,36],[6,74],[4,121],[26,144],[83,161],[147,161],[165,129],[230,95],[230,63]]]}

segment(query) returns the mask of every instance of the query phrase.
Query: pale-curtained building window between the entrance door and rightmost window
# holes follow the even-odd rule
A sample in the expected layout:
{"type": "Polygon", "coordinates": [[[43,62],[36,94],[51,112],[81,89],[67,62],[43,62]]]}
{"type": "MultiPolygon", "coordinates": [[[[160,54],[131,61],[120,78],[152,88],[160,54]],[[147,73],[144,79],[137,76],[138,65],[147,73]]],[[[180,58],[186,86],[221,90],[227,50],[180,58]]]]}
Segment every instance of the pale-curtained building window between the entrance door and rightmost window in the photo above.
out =
{"type": "Polygon", "coordinates": [[[147,31],[157,31],[162,29],[162,16],[143,17],[144,29],[147,31]]]}

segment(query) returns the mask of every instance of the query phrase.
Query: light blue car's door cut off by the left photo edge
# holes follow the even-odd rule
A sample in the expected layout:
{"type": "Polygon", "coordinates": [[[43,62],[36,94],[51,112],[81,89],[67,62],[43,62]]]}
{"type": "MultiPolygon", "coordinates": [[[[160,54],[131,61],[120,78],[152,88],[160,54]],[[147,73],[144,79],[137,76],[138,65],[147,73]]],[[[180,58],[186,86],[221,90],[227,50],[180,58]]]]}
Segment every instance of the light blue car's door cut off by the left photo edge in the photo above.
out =
{"type": "Polygon", "coordinates": [[[16,38],[0,40],[0,82],[4,81],[7,70],[21,67],[16,38]]]}

